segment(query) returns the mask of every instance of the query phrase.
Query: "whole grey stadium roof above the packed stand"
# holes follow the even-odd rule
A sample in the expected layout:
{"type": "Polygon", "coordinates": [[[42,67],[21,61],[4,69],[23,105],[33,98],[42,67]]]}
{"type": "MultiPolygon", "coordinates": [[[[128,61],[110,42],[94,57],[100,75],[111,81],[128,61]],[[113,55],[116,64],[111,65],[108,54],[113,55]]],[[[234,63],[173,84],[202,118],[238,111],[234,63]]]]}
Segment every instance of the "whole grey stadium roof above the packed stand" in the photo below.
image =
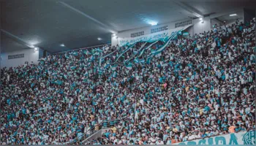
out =
{"type": "Polygon", "coordinates": [[[35,45],[50,53],[110,43],[111,34],[150,26],[151,21],[174,22],[256,5],[253,0],[0,1],[4,51],[35,45]],[[101,40],[97,39],[99,37],[101,40]]]}

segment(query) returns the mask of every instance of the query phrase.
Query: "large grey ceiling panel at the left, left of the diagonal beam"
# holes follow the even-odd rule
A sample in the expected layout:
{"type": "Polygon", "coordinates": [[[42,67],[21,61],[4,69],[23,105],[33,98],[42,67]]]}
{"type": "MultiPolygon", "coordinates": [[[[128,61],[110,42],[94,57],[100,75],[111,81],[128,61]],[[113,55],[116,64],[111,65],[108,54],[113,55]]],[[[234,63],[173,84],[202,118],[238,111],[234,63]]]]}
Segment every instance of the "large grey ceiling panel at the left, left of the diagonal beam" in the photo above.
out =
{"type": "Polygon", "coordinates": [[[105,28],[56,1],[6,1],[2,13],[5,31],[42,48],[47,44],[108,33],[105,28]]]}

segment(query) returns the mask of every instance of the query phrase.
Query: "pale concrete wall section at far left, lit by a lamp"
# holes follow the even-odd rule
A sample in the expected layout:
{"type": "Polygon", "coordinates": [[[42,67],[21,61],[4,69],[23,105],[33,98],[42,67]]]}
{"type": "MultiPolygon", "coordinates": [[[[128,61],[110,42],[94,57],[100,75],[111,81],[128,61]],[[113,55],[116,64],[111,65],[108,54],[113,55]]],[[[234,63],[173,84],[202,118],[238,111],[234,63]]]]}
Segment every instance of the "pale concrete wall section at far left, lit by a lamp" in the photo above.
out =
{"type": "Polygon", "coordinates": [[[12,52],[1,53],[1,68],[3,67],[15,67],[25,64],[26,61],[34,62],[37,64],[39,58],[39,51],[34,52],[34,49],[23,49],[23,50],[15,50],[12,52]],[[24,58],[15,58],[15,59],[8,59],[8,55],[17,55],[23,54],[24,58]]]}

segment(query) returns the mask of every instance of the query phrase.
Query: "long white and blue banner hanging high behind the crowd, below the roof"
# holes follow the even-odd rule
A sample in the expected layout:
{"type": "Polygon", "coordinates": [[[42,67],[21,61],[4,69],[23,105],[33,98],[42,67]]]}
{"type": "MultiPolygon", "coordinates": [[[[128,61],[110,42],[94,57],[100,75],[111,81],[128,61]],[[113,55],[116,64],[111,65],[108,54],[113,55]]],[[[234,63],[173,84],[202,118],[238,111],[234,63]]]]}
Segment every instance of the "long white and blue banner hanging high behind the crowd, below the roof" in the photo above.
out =
{"type": "MultiPolygon", "coordinates": [[[[192,25],[189,25],[189,26],[192,26],[192,25]]],[[[172,34],[177,34],[179,31],[184,31],[189,26],[173,28],[166,31],[160,31],[154,34],[143,35],[140,37],[119,38],[118,45],[119,46],[133,45],[136,42],[155,42],[157,40],[162,40],[163,42],[166,42],[167,39],[169,39],[169,37],[172,34]]]]}

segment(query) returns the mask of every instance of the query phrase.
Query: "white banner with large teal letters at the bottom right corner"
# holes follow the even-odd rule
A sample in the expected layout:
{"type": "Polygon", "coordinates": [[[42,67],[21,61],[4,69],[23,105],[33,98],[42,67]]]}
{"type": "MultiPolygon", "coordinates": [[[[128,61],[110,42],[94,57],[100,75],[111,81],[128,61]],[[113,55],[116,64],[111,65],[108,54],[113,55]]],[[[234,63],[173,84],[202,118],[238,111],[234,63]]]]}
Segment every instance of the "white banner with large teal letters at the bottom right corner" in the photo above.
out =
{"type": "Polygon", "coordinates": [[[255,145],[256,131],[241,131],[217,137],[179,142],[172,145],[255,145]]]}

